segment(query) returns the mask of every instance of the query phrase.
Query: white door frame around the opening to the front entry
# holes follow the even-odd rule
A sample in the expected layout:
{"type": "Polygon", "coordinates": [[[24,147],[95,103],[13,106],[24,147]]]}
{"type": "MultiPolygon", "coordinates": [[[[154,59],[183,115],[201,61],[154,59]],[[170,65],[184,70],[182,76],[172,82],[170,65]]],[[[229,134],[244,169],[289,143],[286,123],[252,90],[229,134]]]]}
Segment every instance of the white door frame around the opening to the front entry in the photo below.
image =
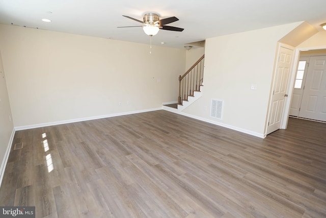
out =
{"type": "Polygon", "coordinates": [[[289,83],[288,83],[288,98],[285,100],[285,103],[284,103],[284,110],[283,110],[283,116],[282,116],[282,122],[281,122],[281,129],[286,129],[287,128],[287,123],[288,123],[288,120],[289,120],[290,107],[291,107],[292,94],[293,94],[293,90],[294,90],[296,65],[297,65],[297,63],[299,61],[300,53],[302,51],[319,50],[319,49],[326,49],[326,45],[314,46],[314,47],[297,47],[296,49],[294,49],[292,69],[290,71],[290,78],[289,78],[289,83]]]}

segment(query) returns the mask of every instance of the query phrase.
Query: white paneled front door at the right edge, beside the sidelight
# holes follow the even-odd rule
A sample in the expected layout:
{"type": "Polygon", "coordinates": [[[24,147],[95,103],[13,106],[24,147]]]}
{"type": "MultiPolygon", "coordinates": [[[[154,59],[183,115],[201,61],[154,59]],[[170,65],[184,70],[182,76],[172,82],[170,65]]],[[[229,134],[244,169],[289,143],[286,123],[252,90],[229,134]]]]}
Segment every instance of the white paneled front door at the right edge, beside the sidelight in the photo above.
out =
{"type": "Polygon", "coordinates": [[[311,56],[299,117],[326,122],[326,56],[311,56]]]}

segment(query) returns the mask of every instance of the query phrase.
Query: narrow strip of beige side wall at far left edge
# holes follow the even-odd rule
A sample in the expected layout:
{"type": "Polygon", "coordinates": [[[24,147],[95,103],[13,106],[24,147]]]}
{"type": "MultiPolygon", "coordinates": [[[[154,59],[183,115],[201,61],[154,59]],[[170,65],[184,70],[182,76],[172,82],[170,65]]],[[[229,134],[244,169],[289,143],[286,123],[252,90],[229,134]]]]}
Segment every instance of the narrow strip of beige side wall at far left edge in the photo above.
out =
{"type": "Polygon", "coordinates": [[[2,181],[3,173],[5,172],[5,155],[9,155],[9,153],[7,153],[7,148],[9,148],[9,143],[11,141],[13,131],[14,125],[7,93],[5,71],[0,52],[0,184],[2,181]]]}

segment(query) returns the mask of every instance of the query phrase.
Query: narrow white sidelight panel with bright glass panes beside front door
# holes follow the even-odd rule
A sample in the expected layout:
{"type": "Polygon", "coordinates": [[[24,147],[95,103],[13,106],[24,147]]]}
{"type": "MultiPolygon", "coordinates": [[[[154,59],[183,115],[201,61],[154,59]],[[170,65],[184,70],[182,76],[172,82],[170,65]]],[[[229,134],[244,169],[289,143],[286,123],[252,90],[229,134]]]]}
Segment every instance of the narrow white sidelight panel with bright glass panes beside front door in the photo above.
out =
{"type": "Polygon", "coordinates": [[[294,89],[292,93],[292,100],[289,115],[299,116],[302,94],[304,92],[304,84],[306,81],[307,71],[309,65],[309,56],[300,57],[295,74],[294,89]]]}

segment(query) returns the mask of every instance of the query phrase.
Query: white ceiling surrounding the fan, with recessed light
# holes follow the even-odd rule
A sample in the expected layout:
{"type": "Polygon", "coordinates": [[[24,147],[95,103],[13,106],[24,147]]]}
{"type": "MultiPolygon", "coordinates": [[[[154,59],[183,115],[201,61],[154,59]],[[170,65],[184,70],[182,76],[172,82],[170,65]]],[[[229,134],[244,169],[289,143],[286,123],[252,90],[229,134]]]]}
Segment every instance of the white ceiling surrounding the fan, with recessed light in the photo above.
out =
{"type": "Polygon", "coordinates": [[[0,23],[140,43],[150,40],[142,28],[117,27],[139,26],[122,15],[142,20],[145,13],[179,18],[169,26],[183,32],[160,30],[152,43],[181,48],[210,37],[297,21],[322,31],[326,0],[0,0],[0,23]]]}

